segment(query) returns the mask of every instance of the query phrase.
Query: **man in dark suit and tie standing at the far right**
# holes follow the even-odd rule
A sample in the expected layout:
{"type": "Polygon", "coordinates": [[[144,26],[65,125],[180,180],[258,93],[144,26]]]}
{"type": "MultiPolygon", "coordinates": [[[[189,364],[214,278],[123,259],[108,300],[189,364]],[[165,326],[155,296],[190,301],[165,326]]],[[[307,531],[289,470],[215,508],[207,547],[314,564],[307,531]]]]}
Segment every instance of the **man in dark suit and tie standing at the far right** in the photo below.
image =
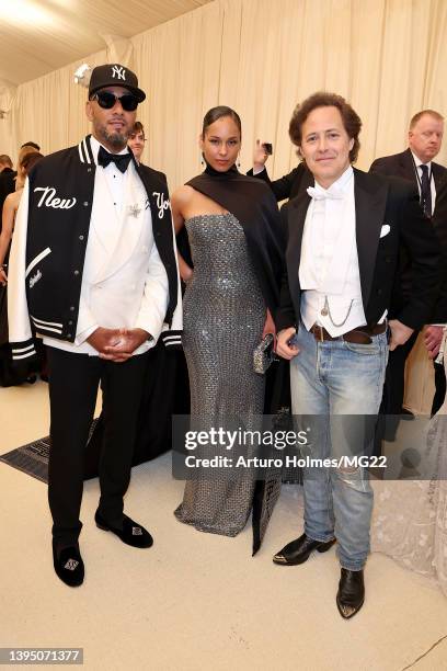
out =
{"type": "MultiPolygon", "coordinates": [[[[371,172],[385,175],[400,177],[412,182],[420,194],[421,206],[433,224],[436,221],[435,230],[439,234],[439,241],[443,243],[447,229],[447,220],[439,221],[436,211],[439,196],[443,191],[447,191],[447,169],[436,163],[433,159],[439,153],[444,133],[444,117],[434,110],[422,110],[413,116],[409,128],[409,147],[401,153],[386,156],[376,159],[371,167],[371,172]],[[433,218],[432,218],[433,217],[433,218]]],[[[392,310],[400,307],[410,298],[410,287],[412,277],[412,266],[406,253],[400,250],[399,277],[394,286],[392,310]]],[[[447,287],[446,287],[447,288],[447,287]]],[[[435,306],[435,311],[429,316],[431,326],[426,329],[426,344],[434,353],[435,342],[440,341],[442,327],[439,325],[439,311],[442,306],[435,306]]],[[[404,398],[404,371],[405,361],[417,338],[415,331],[406,343],[390,353],[387,366],[387,374],[383,388],[383,400],[381,410],[387,414],[410,414],[402,408],[404,398]]],[[[444,401],[446,394],[446,377],[444,365],[435,363],[435,386],[436,393],[433,400],[432,413],[437,412],[444,401]]]]}

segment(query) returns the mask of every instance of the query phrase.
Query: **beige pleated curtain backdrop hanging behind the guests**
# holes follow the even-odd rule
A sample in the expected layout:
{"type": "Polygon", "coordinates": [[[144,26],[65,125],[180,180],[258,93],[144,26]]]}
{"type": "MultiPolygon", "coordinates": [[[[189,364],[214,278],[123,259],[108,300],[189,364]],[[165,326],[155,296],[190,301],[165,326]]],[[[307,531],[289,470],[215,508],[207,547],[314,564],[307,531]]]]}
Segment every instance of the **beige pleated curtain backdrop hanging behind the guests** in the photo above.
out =
{"type": "MultiPolygon", "coordinates": [[[[98,65],[122,53],[138,73],[148,95],[139,112],[145,161],[168,174],[171,190],[200,171],[200,122],[216,104],[241,115],[242,170],[251,166],[255,138],[273,143],[273,177],[297,163],[288,122],[316,90],[345,95],[363,118],[363,169],[405,148],[415,112],[446,111],[446,0],[215,0],[126,48],[106,38],[107,48],[85,60],[98,65]]],[[[72,83],[79,65],[18,88],[0,120],[0,152],[15,156],[28,139],[45,153],[79,140],[88,130],[85,90],[72,83]]],[[[447,144],[438,160],[446,157],[447,144]]],[[[427,412],[432,364],[423,349],[412,360],[406,403],[427,412]]]]}

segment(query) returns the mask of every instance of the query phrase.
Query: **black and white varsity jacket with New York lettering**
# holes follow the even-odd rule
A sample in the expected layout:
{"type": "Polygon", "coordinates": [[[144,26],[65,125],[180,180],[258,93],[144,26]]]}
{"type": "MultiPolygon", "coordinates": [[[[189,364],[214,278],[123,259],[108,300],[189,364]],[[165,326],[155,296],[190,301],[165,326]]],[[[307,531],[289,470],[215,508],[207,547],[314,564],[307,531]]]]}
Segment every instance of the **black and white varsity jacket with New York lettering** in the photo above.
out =
{"type": "MultiPolygon", "coordinates": [[[[18,211],[8,273],[13,360],[35,354],[33,332],[73,342],[93,203],[95,162],[90,135],[31,170],[18,211]]],[[[134,159],[135,160],[135,159],[134,159]]],[[[161,340],[181,344],[181,294],[165,175],[139,166],[153,239],[169,283],[161,340]]]]}

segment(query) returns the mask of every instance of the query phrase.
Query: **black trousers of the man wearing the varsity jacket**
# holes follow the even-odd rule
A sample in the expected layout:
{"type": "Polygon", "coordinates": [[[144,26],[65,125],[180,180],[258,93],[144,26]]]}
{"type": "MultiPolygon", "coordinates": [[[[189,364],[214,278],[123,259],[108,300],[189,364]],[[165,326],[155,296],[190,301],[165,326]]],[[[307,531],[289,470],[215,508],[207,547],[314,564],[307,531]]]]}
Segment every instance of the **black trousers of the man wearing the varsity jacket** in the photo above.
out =
{"type": "Polygon", "coordinates": [[[123,522],[123,497],[131,469],[136,424],[148,355],[125,363],[48,348],[50,437],[48,501],[57,547],[74,545],[82,527],[84,451],[98,387],[103,394],[104,436],[100,456],[99,512],[123,522]]]}

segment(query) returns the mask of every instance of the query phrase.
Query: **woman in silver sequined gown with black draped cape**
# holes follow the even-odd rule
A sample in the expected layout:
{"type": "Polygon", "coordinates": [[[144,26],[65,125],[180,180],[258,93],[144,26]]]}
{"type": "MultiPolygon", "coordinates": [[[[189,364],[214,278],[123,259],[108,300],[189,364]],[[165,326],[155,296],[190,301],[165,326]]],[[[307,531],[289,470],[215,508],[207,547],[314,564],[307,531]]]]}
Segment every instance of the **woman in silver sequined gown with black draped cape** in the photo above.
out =
{"type": "MultiPolygon", "coordinates": [[[[217,427],[243,417],[244,428],[253,429],[264,409],[264,376],[253,371],[253,352],[274,331],[279,223],[268,187],[236,169],[240,145],[236,112],[210,110],[200,136],[207,168],[171,202],[176,231],[183,226],[187,230],[194,264],[193,270],[179,257],[186,282],[183,342],[192,425],[205,418],[217,427]]],[[[187,480],[175,515],[199,531],[234,536],[252,510],[254,488],[255,476],[247,469],[218,477],[196,474],[187,480]]],[[[278,488],[279,482],[271,487],[270,512],[278,488]]]]}

